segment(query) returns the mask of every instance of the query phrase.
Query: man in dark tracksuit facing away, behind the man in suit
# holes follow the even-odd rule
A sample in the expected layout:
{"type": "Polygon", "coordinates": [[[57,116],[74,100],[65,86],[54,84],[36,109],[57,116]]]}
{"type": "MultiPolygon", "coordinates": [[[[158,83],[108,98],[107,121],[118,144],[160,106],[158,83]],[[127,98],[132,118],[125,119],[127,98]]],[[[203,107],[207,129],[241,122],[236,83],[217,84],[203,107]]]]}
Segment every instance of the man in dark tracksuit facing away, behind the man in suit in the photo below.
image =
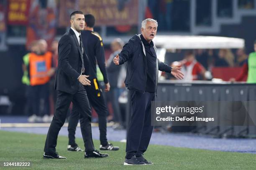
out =
{"type": "MultiPolygon", "coordinates": [[[[102,38],[97,33],[93,32],[95,25],[95,18],[91,14],[84,15],[85,30],[82,31],[82,42],[85,52],[89,58],[90,76],[88,79],[91,81],[90,86],[85,86],[87,96],[91,107],[95,109],[98,114],[99,129],[100,129],[100,150],[118,150],[118,147],[108,143],[107,140],[107,114],[108,110],[102,95],[102,90],[97,80],[96,64],[99,65],[100,71],[104,77],[105,91],[110,90],[108,76],[105,67],[105,55],[102,38]]],[[[72,108],[72,113],[69,117],[69,151],[82,151],[75,143],[75,130],[79,120],[79,112],[76,107],[72,108]]]]}

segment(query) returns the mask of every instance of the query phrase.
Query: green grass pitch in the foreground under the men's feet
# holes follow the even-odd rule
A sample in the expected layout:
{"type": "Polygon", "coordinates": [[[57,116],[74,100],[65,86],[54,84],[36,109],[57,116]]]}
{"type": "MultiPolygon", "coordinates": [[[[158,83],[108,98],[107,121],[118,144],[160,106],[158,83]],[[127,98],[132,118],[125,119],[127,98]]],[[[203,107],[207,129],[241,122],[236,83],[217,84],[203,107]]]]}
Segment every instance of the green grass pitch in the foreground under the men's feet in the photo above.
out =
{"type": "MultiPolygon", "coordinates": [[[[163,145],[149,145],[145,158],[154,165],[124,166],[125,143],[113,142],[120,147],[109,153],[108,158],[84,159],[83,152],[68,152],[66,136],[59,136],[57,152],[67,159],[44,159],[46,135],[0,131],[0,169],[33,170],[255,170],[256,155],[248,153],[220,152],[163,145]],[[31,162],[31,167],[3,167],[3,162],[31,162]]],[[[189,141],[187,141],[189,142],[189,141]]],[[[83,148],[82,139],[77,139],[83,148]]],[[[94,140],[95,148],[100,143],[94,140]]]]}

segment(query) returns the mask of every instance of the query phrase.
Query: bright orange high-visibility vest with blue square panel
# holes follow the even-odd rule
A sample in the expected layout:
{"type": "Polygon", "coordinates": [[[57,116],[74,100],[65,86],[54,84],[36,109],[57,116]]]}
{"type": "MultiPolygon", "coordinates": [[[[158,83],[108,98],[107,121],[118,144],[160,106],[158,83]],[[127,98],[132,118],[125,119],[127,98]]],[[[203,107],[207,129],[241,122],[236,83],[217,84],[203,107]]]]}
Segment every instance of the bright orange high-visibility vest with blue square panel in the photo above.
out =
{"type": "Polygon", "coordinates": [[[51,69],[52,62],[51,52],[46,52],[44,55],[30,53],[29,55],[29,72],[30,85],[43,85],[49,82],[50,77],[47,72],[51,69]]]}

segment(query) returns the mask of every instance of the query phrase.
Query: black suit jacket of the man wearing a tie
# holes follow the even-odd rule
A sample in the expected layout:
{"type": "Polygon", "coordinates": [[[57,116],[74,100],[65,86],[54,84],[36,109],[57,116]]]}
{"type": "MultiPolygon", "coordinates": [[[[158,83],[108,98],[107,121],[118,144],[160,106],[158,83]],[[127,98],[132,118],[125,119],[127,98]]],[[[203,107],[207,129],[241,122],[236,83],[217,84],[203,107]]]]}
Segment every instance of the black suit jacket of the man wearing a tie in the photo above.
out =
{"type": "MultiPolygon", "coordinates": [[[[59,40],[58,69],[55,80],[55,90],[75,94],[79,89],[77,78],[81,74],[82,60],[80,46],[74,31],[70,28],[59,40]]],[[[85,75],[89,75],[89,60],[83,53],[85,75]]]]}

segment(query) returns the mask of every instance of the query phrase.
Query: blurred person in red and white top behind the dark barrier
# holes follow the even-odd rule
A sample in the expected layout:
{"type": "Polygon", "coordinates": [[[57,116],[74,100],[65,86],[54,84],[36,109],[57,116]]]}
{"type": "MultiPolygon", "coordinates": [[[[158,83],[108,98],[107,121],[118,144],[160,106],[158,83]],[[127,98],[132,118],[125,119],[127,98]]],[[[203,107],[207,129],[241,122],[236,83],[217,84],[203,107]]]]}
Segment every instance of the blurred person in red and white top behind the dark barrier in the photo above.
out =
{"type": "Polygon", "coordinates": [[[181,62],[181,71],[184,73],[183,80],[205,80],[205,67],[197,62],[192,50],[188,50],[185,53],[184,59],[181,62]]]}

